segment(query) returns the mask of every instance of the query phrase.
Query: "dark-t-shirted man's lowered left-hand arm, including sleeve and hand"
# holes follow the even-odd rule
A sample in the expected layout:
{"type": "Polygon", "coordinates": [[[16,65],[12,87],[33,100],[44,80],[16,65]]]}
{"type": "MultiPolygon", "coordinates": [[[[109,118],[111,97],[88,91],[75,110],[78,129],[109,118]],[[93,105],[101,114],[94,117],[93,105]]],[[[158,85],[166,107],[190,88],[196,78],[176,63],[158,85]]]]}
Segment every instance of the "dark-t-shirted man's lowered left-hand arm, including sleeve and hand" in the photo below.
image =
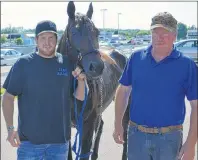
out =
{"type": "Polygon", "coordinates": [[[2,97],[2,111],[8,129],[7,140],[13,147],[20,145],[20,139],[18,132],[13,128],[13,116],[14,116],[14,97],[22,94],[24,75],[21,61],[18,60],[11,68],[6,80],[3,84],[3,88],[6,89],[2,97]]]}

